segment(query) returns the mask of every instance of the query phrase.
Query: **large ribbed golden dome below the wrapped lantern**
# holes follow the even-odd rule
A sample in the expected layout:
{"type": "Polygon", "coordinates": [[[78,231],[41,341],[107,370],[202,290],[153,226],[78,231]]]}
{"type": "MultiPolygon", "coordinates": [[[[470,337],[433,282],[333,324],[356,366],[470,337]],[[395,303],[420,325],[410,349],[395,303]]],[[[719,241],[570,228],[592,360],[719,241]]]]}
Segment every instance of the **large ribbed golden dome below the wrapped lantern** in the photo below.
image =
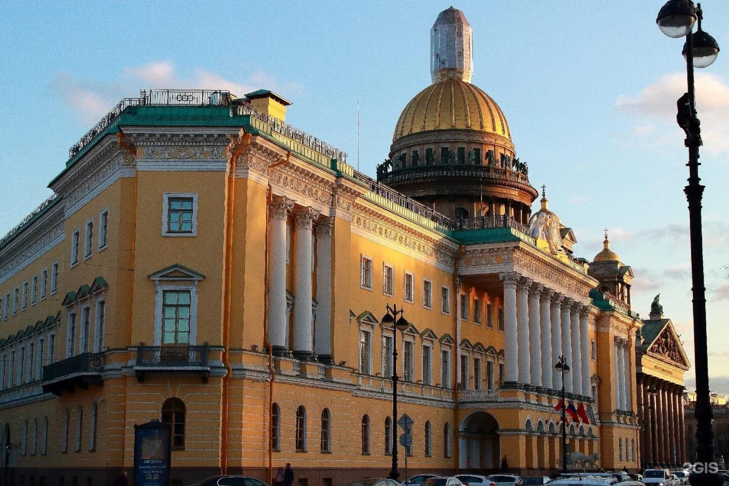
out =
{"type": "Polygon", "coordinates": [[[496,133],[511,141],[499,105],[483,90],[460,79],[435,82],[410,100],[397,120],[393,141],[410,133],[449,128],[496,133]]]}

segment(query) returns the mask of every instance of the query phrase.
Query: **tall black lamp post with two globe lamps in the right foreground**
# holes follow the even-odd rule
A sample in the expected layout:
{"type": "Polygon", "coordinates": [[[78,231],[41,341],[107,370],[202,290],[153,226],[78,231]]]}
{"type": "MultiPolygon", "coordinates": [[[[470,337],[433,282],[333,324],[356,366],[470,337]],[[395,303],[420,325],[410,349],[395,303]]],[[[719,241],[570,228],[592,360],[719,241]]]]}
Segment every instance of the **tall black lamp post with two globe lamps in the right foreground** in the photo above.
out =
{"type": "MultiPolygon", "coordinates": [[[[698,462],[708,466],[714,462],[714,433],[712,432],[712,406],[709,401],[709,364],[706,352],[706,289],[703,284],[703,242],[701,237],[701,195],[703,186],[698,177],[698,147],[701,146],[700,122],[696,116],[693,68],[710,66],[719,45],[712,36],[701,30],[701,4],[694,7],[691,0],[668,0],[658,12],[658,28],[663,34],[678,39],[686,37],[683,55],[686,58],[688,91],[677,102],[677,122],[686,133],[688,148],[688,184],[684,189],[688,201],[691,242],[691,283],[693,286],[693,341],[696,372],[696,455],[698,462]],[[698,28],[693,32],[693,24],[698,28]]],[[[719,485],[721,479],[714,474],[691,474],[692,485],[719,485]]]]}

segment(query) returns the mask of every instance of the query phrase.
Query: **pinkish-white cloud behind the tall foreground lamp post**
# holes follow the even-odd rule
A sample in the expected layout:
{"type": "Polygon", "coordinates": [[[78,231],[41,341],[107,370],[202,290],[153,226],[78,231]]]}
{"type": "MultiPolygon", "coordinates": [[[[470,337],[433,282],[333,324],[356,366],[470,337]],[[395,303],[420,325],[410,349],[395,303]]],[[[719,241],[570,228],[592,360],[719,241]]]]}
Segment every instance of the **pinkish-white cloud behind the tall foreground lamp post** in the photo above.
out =
{"type": "MultiPolygon", "coordinates": [[[[674,136],[676,131],[681,133],[676,124],[676,101],[686,89],[685,74],[666,74],[637,95],[618,96],[615,106],[638,118],[640,125],[632,130],[633,135],[658,149],[680,142],[674,136]],[[670,137],[667,136],[670,132],[666,133],[669,126],[674,130],[670,137]],[[656,138],[659,131],[665,135],[656,138]]],[[[698,73],[695,90],[706,150],[714,154],[729,152],[729,83],[715,74],[698,73]]]]}

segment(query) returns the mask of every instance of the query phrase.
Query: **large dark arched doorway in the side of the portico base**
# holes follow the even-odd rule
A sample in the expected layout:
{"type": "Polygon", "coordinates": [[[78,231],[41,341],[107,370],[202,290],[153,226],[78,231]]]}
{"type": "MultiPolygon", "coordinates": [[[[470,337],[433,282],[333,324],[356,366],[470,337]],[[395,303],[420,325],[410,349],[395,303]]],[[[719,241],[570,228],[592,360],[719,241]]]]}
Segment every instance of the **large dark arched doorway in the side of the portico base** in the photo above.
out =
{"type": "Polygon", "coordinates": [[[494,415],[481,410],[461,420],[458,430],[461,469],[496,471],[499,468],[498,430],[494,415]]]}

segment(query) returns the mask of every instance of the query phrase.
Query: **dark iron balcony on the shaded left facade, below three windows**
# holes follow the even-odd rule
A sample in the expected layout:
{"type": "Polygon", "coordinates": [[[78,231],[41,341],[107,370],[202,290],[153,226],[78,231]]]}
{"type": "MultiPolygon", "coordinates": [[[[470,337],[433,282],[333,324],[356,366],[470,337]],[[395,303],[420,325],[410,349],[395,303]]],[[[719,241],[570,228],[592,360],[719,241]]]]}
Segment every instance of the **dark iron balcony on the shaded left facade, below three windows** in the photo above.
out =
{"type": "Polygon", "coordinates": [[[44,392],[61,395],[77,387],[87,390],[89,385],[103,386],[104,353],[81,353],[43,367],[44,392]]]}

